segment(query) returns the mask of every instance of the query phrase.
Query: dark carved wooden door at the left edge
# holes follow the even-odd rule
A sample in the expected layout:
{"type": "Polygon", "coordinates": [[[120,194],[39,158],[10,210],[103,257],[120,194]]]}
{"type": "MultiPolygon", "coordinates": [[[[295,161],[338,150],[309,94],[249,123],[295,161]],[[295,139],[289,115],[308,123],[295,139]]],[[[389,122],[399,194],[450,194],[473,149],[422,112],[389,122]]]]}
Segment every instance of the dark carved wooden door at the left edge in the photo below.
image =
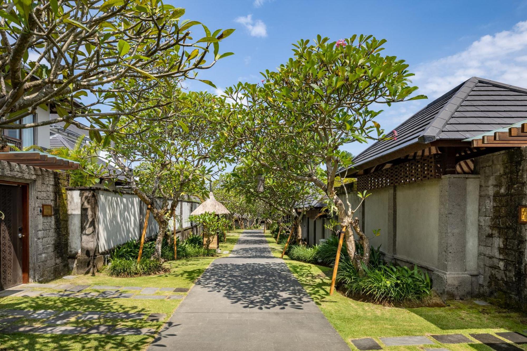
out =
{"type": "Polygon", "coordinates": [[[26,232],[22,196],[22,186],[0,184],[0,290],[22,284],[22,239],[26,232]]]}

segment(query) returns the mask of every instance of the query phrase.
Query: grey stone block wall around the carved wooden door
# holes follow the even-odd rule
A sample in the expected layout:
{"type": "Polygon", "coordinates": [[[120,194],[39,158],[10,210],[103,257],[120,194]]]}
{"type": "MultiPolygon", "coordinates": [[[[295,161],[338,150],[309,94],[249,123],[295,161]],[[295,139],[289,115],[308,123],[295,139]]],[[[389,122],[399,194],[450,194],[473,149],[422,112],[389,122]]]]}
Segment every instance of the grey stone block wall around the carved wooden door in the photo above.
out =
{"type": "Polygon", "coordinates": [[[30,280],[47,281],[67,274],[67,175],[0,161],[0,179],[29,185],[30,280]],[[42,216],[42,204],[52,205],[53,216],[42,216]]]}

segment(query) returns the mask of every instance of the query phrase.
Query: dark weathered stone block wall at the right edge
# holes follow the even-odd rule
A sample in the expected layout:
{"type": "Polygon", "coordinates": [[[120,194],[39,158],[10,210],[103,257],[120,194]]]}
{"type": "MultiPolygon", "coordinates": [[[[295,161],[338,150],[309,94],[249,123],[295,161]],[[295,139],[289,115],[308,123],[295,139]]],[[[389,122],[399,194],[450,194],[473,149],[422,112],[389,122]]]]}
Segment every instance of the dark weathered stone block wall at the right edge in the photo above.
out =
{"type": "Polygon", "coordinates": [[[477,159],[481,175],[479,256],[481,295],[527,302],[527,225],[518,207],[527,205],[527,148],[477,159]]]}

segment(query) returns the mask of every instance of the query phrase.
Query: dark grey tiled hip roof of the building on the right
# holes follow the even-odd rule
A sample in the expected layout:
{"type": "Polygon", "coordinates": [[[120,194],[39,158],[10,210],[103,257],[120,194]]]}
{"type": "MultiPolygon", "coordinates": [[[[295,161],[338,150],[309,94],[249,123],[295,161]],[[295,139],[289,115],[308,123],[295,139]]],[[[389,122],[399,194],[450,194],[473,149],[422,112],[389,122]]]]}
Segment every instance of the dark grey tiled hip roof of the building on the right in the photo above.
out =
{"type": "MultiPolygon", "coordinates": [[[[525,119],[527,89],[472,77],[397,126],[396,140],[379,140],[359,153],[354,167],[409,145],[464,140],[525,119]]],[[[393,132],[387,137],[393,138],[393,132]]]]}

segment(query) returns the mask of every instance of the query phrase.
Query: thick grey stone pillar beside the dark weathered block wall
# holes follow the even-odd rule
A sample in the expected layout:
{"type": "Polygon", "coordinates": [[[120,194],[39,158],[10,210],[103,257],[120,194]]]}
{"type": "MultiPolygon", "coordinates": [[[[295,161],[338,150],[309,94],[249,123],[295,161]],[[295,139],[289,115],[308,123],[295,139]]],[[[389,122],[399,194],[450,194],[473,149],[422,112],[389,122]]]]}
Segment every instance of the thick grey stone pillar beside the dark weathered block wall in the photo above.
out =
{"type": "Polygon", "coordinates": [[[479,176],[448,174],[440,182],[437,270],[441,295],[466,298],[477,292],[479,176]]]}

